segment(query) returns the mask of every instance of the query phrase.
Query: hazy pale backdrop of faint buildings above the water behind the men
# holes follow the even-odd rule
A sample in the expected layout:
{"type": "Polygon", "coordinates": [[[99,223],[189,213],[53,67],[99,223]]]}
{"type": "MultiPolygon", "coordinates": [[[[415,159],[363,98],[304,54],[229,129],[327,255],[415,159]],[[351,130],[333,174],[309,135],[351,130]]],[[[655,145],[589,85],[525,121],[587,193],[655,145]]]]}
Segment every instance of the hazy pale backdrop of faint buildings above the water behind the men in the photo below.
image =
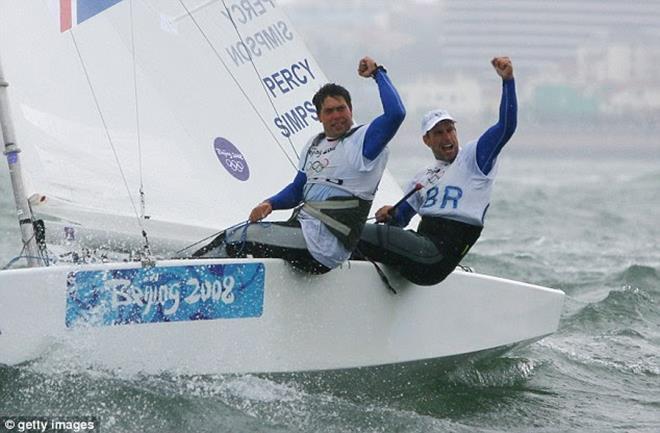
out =
{"type": "MultiPolygon", "coordinates": [[[[354,95],[356,117],[378,113],[355,73],[369,54],[386,65],[417,139],[438,105],[468,140],[496,120],[499,81],[489,65],[516,68],[516,139],[539,148],[642,151],[660,160],[660,1],[280,0],[331,81],[354,95]],[[366,102],[365,102],[366,101],[366,102]]],[[[604,150],[603,150],[604,151],[604,150]]]]}

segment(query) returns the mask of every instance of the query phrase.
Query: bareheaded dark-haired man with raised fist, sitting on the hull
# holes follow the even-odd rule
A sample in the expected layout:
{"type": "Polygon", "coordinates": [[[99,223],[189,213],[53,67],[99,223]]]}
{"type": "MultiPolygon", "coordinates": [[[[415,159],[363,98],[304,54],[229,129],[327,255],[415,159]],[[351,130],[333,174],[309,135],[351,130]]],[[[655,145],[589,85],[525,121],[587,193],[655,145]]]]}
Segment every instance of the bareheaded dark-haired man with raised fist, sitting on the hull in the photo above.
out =
{"type": "Polygon", "coordinates": [[[348,259],[360,238],[387,163],[387,143],[405,117],[387,72],[364,57],[361,77],[378,85],[383,114],[355,126],[351,96],[337,84],[321,87],[312,102],[323,132],[301,152],[293,182],[250,212],[247,229],[221,235],[194,256],[280,257],[321,274],[348,259]],[[297,208],[286,222],[258,223],[274,209],[297,208]]]}

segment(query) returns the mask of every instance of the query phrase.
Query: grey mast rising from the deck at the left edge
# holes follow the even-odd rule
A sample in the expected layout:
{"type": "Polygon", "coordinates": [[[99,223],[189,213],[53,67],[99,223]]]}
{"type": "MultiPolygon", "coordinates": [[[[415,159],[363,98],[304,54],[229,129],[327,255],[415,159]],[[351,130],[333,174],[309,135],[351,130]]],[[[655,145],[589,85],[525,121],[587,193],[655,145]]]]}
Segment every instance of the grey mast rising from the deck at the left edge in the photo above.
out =
{"type": "Polygon", "coordinates": [[[16,215],[21,228],[23,245],[27,252],[28,266],[35,267],[40,266],[42,261],[39,259],[39,248],[34,236],[32,211],[28,205],[25,187],[23,185],[21,162],[18,157],[21,150],[16,144],[14,125],[9,112],[9,97],[7,95],[7,87],[9,86],[9,83],[5,81],[4,77],[2,62],[0,62],[0,132],[2,132],[2,134],[0,134],[0,144],[4,144],[4,154],[7,155],[9,175],[11,177],[11,185],[14,190],[14,201],[16,203],[16,215]]]}

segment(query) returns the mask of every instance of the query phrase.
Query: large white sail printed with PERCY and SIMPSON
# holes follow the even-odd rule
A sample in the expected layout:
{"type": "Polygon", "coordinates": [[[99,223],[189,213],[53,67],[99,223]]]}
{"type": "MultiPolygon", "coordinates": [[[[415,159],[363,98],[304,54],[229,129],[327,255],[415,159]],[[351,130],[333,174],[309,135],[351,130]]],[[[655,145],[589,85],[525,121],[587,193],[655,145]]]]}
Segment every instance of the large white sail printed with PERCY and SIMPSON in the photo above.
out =
{"type": "Polygon", "coordinates": [[[273,1],[0,2],[0,60],[37,210],[83,225],[244,221],[321,130],[327,78],[273,1]]]}

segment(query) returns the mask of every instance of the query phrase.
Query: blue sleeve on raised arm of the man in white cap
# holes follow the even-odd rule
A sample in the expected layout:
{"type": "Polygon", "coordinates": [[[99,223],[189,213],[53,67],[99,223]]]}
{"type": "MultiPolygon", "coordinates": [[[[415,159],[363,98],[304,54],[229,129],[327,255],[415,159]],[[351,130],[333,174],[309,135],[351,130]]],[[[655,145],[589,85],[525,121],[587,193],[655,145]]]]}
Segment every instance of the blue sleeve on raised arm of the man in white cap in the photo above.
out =
{"type": "Polygon", "coordinates": [[[495,159],[516,130],[518,102],[514,79],[503,80],[500,119],[484,132],[477,142],[477,165],[483,174],[493,169],[495,159]]]}

